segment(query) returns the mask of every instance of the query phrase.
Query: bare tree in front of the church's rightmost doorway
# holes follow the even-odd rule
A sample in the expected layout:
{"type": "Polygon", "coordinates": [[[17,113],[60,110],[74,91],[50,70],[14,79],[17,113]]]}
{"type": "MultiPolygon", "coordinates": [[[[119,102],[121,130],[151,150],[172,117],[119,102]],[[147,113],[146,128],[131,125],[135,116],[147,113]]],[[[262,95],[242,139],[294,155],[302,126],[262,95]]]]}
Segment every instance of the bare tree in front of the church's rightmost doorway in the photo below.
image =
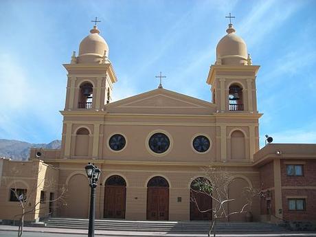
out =
{"type": "Polygon", "coordinates": [[[216,221],[218,221],[218,219],[228,218],[231,215],[242,212],[248,212],[252,204],[252,198],[258,194],[258,191],[251,187],[246,187],[244,190],[240,190],[245,196],[245,204],[242,205],[240,210],[229,212],[228,204],[236,201],[236,199],[229,197],[229,184],[234,180],[234,175],[226,170],[221,170],[220,168],[214,168],[212,166],[208,166],[202,170],[203,174],[201,177],[192,180],[190,190],[192,195],[190,201],[195,203],[199,212],[212,212],[213,218],[207,233],[210,237],[212,232],[214,236],[216,236],[216,221]],[[209,196],[210,199],[212,199],[212,206],[202,208],[201,203],[196,199],[196,194],[209,196]]]}

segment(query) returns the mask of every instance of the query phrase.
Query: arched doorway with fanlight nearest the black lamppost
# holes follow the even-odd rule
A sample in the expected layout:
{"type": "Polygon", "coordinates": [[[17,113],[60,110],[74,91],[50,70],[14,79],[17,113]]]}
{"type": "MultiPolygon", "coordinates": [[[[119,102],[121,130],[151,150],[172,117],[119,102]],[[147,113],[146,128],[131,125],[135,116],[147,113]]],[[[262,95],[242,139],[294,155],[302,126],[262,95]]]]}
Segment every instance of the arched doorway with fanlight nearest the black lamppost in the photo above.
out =
{"type": "Polygon", "coordinates": [[[104,217],[125,218],[126,181],[119,175],[106,179],[104,187],[104,217]]]}

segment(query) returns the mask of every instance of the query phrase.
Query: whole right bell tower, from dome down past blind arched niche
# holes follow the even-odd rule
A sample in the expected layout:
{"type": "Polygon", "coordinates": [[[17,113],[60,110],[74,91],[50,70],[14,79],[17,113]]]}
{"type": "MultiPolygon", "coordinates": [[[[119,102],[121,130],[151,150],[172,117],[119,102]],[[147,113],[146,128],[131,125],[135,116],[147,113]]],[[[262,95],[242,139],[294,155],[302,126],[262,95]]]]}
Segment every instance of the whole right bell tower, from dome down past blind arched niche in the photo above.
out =
{"type": "Polygon", "coordinates": [[[218,143],[221,161],[253,160],[259,150],[256,75],[245,41],[236,35],[232,23],[216,47],[207,84],[217,106],[218,143]],[[243,150],[241,150],[241,148],[243,150]]]}

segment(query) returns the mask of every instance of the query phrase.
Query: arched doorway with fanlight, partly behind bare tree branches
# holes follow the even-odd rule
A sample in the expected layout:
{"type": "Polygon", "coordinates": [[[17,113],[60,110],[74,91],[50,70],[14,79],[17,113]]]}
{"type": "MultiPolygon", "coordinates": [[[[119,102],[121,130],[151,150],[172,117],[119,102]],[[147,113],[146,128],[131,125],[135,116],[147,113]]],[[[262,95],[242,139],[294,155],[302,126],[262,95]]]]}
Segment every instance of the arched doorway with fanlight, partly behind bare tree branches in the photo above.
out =
{"type": "Polygon", "coordinates": [[[199,177],[192,181],[190,185],[190,220],[191,221],[210,221],[212,220],[212,197],[200,191],[203,185],[210,185],[210,182],[199,177]],[[199,206],[199,208],[198,208],[199,206]],[[208,212],[200,212],[210,210],[208,212]]]}

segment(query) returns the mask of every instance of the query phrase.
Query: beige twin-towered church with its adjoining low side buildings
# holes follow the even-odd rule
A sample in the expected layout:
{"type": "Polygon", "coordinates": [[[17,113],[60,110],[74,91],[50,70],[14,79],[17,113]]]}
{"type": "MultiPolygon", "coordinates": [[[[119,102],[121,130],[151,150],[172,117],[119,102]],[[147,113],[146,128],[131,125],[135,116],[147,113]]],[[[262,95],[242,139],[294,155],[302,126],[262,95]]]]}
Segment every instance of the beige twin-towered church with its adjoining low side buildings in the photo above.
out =
{"type": "MultiPolygon", "coordinates": [[[[229,212],[243,205],[241,190],[260,190],[253,221],[316,220],[316,144],[267,144],[259,148],[256,75],[245,41],[232,24],[216,47],[205,87],[212,101],[157,89],[113,102],[115,65],[96,26],[74,52],[67,70],[67,95],[59,150],[31,149],[30,161],[0,161],[0,219],[19,212],[19,194],[43,201],[29,220],[49,216],[87,218],[90,188],[84,166],[100,168],[95,218],[210,220],[190,201],[201,168],[234,176],[229,212]],[[54,181],[58,185],[47,185],[54,181]],[[67,190],[57,207],[49,202],[67,190]]],[[[120,54],[120,52],[111,52],[120,54]]],[[[211,56],[211,55],[210,55],[211,56]]],[[[207,69],[205,69],[207,74],[207,69]]],[[[181,76],[181,75],[179,75],[181,76]]],[[[119,83],[119,82],[117,82],[119,83]]],[[[284,119],[285,120],[285,119],[284,119]]],[[[212,200],[200,196],[201,202],[212,200]]],[[[226,221],[246,221],[245,213],[226,221]]]]}

